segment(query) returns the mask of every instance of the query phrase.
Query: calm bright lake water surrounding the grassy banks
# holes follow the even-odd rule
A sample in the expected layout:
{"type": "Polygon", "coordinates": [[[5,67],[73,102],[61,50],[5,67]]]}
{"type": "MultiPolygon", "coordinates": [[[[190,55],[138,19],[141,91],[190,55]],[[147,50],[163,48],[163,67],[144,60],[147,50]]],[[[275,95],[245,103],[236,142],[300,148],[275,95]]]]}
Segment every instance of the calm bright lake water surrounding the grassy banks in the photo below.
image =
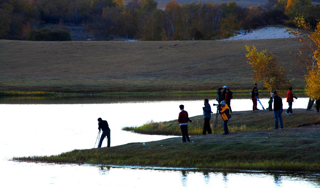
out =
{"type": "MultiPolygon", "coordinates": [[[[203,99],[202,96],[0,98],[0,187],[320,187],[320,174],[313,173],[10,161],[13,156],[93,148],[98,117],[109,123],[111,146],[169,138],[172,136],[140,135],[121,128],[139,126],[150,120],[177,119],[180,104],[185,105],[189,116],[201,115],[203,99]]],[[[261,102],[268,107],[268,98],[261,102]]],[[[308,98],[298,98],[293,108],[305,108],[307,102],[308,98]]],[[[216,101],[212,97],[209,103],[216,101]]],[[[233,111],[251,110],[250,96],[232,99],[231,106],[233,111]]],[[[284,101],[284,108],[287,107],[284,101]]],[[[259,105],[258,108],[261,109],[259,105]]],[[[102,147],[106,145],[104,141],[102,147]]]]}

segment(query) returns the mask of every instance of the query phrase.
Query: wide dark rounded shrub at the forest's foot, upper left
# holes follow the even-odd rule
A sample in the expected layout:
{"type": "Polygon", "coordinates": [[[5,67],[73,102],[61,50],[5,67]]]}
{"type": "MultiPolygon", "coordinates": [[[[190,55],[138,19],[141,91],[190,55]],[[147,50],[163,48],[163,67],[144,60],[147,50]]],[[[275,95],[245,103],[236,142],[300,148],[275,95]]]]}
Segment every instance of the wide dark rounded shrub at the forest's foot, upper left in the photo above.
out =
{"type": "Polygon", "coordinates": [[[27,40],[29,41],[71,41],[71,36],[66,31],[50,29],[31,30],[28,33],[27,40]]]}

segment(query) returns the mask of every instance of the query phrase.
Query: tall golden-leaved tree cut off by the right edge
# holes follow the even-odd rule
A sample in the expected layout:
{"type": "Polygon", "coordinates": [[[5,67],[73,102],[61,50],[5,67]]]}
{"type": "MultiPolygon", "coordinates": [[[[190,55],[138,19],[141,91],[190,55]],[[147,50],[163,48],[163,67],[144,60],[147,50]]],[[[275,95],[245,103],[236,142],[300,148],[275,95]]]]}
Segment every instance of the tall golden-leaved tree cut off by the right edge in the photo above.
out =
{"type": "Polygon", "coordinates": [[[298,68],[305,75],[305,92],[310,97],[307,110],[312,108],[315,99],[320,98],[320,20],[313,29],[303,16],[297,16],[297,30],[287,28],[303,43],[296,56],[298,68]]]}

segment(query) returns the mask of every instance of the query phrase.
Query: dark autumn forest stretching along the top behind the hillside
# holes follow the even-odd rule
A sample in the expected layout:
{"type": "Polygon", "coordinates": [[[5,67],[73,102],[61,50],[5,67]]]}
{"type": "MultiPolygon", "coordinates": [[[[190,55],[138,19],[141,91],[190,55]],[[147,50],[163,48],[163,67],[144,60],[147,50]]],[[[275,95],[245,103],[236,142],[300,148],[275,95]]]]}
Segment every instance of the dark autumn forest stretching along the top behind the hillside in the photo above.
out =
{"type": "Polygon", "coordinates": [[[268,0],[263,6],[154,0],[0,0],[0,39],[9,40],[213,40],[264,25],[295,27],[304,16],[312,26],[320,6],[311,0],[268,0]],[[44,27],[54,25],[54,28],[44,27]],[[67,27],[69,29],[67,29],[67,27]]]}

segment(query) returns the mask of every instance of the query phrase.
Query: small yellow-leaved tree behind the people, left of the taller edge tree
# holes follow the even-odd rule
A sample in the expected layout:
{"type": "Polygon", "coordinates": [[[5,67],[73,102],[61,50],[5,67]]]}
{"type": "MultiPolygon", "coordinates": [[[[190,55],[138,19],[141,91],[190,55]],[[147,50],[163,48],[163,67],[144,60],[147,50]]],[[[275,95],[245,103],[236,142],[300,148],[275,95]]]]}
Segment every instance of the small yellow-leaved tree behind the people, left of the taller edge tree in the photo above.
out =
{"type": "Polygon", "coordinates": [[[284,68],[277,62],[277,57],[272,53],[267,53],[267,50],[257,51],[255,46],[250,49],[245,46],[248,58],[248,63],[253,68],[254,81],[263,81],[263,86],[268,91],[277,91],[278,95],[284,95],[289,86],[289,79],[285,75],[284,68]]]}

